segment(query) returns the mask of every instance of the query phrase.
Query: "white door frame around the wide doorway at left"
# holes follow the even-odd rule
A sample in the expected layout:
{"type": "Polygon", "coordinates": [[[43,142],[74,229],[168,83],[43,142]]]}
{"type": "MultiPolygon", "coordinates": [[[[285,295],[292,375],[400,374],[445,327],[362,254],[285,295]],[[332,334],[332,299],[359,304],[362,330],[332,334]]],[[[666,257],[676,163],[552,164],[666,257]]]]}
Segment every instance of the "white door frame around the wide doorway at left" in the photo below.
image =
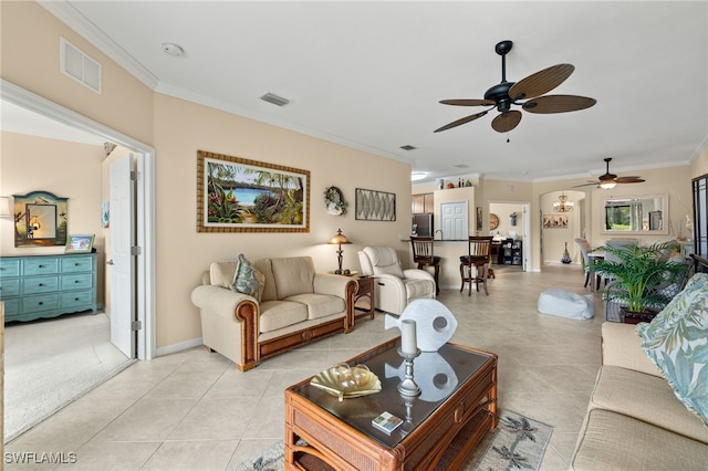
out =
{"type": "Polygon", "coordinates": [[[136,310],[143,328],[137,332],[137,358],[152,359],[156,350],[155,332],[155,149],[145,143],[87,118],[50,100],[0,78],[0,97],[65,125],[101,136],[135,153],[138,172],[136,191],[137,257],[136,310]]]}

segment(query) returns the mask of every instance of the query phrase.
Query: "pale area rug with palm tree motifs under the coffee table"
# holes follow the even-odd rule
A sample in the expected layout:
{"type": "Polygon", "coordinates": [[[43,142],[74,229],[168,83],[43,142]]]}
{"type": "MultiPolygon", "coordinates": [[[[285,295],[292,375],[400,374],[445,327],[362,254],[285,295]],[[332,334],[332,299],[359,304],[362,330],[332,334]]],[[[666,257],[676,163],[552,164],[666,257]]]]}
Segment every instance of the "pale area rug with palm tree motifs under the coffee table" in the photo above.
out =
{"type": "MultiPolygon", "coordinates": [[[[511,411],[499,411],[499,426],[485,436],[465,471],[539,470],[553,427],[511,411]]],[[[238,464],[232,471],[281,471],[284,444],[271,444],[258,456],[238,464]]]]}

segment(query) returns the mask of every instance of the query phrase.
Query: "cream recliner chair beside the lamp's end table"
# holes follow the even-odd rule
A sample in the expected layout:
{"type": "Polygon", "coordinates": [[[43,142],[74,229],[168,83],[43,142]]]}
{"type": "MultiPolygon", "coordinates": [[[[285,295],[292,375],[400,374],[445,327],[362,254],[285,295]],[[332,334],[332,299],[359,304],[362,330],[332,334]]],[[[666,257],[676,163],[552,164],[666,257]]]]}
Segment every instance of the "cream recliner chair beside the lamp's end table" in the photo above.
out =
{"type": "Polygon", "coordinates": [[[400,314],[413,300],[435,299],[433,275],[425,270],[403,269],[391,247],[365,247],[358,252],[362,274],[373,275],[376,308],[400,314]]]}

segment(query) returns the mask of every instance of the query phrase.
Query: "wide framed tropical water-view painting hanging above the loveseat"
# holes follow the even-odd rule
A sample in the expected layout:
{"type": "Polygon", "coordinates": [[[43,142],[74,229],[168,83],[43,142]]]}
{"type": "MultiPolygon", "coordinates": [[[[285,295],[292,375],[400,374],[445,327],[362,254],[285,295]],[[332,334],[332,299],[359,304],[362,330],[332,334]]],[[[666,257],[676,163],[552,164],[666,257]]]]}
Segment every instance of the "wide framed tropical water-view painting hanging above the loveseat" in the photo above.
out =
{"type": "Polygon", "coordinates": [[[198,232],[309,232],[310,171],[197,151],[198,232]]]}

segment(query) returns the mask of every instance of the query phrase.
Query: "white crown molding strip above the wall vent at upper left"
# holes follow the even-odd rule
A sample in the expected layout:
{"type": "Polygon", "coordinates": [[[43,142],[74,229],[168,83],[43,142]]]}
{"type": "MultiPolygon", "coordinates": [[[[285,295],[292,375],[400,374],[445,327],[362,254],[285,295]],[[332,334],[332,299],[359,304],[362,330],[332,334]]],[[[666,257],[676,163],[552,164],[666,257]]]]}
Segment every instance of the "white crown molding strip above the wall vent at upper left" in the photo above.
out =
{"type": "Polygon", "coordinates": [[[145,69],[131,54],[118,46],[103,31],[96,28],[91,21],[79,12],[74,7],[64,0],[38,0],[40,7],[45,9],[59,21],[74,30],[79,35],[88,41],[92,45],[115,61],[121,67],[127,71],[135,78],[140,81],[150,90],[155,90],[159,83],[150,71],[145,69]]]}

